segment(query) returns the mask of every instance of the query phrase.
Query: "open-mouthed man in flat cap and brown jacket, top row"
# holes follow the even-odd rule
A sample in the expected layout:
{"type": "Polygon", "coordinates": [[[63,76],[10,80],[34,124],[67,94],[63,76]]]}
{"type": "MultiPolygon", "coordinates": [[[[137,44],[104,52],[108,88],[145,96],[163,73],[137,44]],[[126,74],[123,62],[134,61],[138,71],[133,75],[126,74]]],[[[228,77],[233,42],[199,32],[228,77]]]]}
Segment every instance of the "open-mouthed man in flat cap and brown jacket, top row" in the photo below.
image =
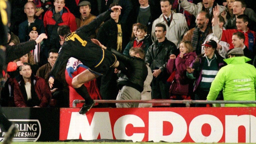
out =
{"type": "MultiPolygon", "coordinates": [[[[89,24],[96,16],[91,14],[91,3],[88,1],[82,1],[78,4],[80,17],[76,17],[77,28],[89,24]]],[[[102,23],[103,24],[103,23],[102,23]]],[[[102,25],[101,24],[101,25],[102,25]]],[[[100,25],[100,27],[101,27],[100,25]]],[[[98,29],[90,36],[90,38],[96,38],[98,29]]]]}

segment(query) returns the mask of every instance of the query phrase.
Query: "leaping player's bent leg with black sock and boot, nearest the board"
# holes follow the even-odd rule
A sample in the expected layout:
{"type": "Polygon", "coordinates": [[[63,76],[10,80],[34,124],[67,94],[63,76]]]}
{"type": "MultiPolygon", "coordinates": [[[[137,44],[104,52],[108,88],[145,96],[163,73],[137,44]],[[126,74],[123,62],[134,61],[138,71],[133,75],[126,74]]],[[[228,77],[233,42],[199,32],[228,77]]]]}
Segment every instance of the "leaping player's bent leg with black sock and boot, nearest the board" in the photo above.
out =
{"type": "Polygon", "coordinates": [[[90,97],[87,88],[84,86],[84,83],[97,77],[98,75],[91,73],[87,69],[72,79],[73,88],[85,100],[85,104],[83,104],[83,107],[80,109],[79,114],[85,114],[95,104],[94,100],[90,97]]]}

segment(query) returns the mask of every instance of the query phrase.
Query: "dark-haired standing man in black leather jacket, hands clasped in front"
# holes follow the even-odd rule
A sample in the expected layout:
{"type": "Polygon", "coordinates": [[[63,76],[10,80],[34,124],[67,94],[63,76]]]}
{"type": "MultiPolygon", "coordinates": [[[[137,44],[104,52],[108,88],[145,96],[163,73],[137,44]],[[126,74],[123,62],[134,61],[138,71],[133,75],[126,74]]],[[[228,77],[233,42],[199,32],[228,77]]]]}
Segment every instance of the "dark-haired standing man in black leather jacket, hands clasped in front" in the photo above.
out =
{"type": "Polygon", "coordinates": [[[175,44],[165,37],[166,26],[158,23],[155,26],[157,40],[148,48],[145,62],[149,63],[153,72],[152,99],[169,99],[169,87],[166,80],[166,64],[171,54],[177,56],[178,50],[175,44]]]}

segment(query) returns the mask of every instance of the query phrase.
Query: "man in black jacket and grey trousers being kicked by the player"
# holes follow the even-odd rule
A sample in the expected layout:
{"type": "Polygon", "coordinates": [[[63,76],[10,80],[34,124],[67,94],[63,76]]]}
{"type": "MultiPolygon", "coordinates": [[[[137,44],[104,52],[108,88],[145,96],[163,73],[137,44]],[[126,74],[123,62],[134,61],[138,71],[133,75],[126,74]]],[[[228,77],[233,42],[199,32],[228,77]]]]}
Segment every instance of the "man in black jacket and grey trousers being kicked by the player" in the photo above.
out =
{"type": "MultiPolygon", "coordinates": [[[[123,55],[116,50],[111,50],[119,61],[123,62],[127,71],[121,79],[118,79],[118,87],[121,88],[117,100],[141,100],[141,92],[144,88],[144,81],[148,75],[148,70],[144,61],[145,52],[142,49],[135,49],[131,52],[131,57],[123,55]]],[[[116,107],[138,107],[138,103],[116,103],[116,107]]]]}

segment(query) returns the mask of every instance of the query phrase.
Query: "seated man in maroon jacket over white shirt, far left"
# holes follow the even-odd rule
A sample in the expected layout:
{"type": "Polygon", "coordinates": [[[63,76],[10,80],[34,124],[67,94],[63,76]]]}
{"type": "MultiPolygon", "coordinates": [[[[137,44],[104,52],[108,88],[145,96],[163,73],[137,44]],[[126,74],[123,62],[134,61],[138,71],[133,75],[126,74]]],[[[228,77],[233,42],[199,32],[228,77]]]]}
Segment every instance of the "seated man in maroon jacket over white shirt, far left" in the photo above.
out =
{"type": "Polygon", "coordinates": [[[16,107],[47,107],[51,91],[43,78],[34,76],[28,63],[19,67],[20,77],[14,79],[16,107]]]}

